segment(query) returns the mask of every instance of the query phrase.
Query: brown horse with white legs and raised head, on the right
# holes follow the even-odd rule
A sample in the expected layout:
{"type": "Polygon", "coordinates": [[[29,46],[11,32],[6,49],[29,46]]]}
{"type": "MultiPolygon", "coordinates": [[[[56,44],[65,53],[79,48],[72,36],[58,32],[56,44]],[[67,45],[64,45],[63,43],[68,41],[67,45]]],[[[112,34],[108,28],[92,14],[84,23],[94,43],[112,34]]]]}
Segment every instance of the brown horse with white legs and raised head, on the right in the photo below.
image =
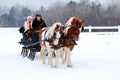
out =
{"type": "Polygon", "coordinates": [[[72,67],[71,61],[71,51],[74,49],[74,45],[76,45],[76,41],[79,40],[79,34],[81,30],[83,30],[84,20],[81,20],[77,17],[71,17],[66,23],[66,28],[64,29],[64,37],[62,45],[62,56],[64,56],[63,63],[67,61],[67,67],[72,67]]]}

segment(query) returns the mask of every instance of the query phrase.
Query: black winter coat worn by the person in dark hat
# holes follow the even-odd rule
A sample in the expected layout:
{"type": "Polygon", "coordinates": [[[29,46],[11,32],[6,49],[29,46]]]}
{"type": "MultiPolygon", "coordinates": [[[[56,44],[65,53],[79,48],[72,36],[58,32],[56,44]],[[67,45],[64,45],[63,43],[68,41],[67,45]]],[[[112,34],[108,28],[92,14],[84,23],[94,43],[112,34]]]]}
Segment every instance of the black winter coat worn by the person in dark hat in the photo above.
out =
{"type": "Polygon", "coordinates": [[[32,23],[32,27],[33,27],[33,29],[41,29],[41,28],[44,28],[47,26],[46,26],[44,20],[38,21],[35,19],[32,23]]]}

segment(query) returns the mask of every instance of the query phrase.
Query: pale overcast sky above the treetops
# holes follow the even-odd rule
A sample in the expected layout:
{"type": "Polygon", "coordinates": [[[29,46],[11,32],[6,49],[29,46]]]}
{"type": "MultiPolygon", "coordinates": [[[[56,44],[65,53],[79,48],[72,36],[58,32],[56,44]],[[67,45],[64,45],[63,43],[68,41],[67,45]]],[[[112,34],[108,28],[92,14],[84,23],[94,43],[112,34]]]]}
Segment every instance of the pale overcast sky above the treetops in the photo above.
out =
{"type": "MultiPolygon", "coordinates": [[[[14,6],[15,4],[20,4],[20,5],[31,6],[36,9],[37,8],[39,9],[41,6],[49,7],[56,1],[67,3],[71,0],[0,0],[0,5],[11,7],[11,6],[14,6]]],[[[80,0],[72,0],[72,1],[79,2],[80,0]]],[[[111,2],[111,0],[90,0],[90,1],[100,1],[102,4],[107,4],[111,2]]]]}

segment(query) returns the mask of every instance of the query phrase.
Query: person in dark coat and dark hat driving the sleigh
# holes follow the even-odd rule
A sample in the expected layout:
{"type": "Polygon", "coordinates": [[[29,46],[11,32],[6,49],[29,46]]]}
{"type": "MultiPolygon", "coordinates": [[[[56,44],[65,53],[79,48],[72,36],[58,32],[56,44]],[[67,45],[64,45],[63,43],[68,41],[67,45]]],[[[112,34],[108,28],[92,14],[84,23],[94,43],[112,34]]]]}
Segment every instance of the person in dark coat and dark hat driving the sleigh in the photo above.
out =
{"type": "Polygon", "coordinates": [[[33,20],[33,23],[32,23],[32,27],[33,29],[41,29],[41,28],[47,27],[46,23],[44,22],[40,14],[36,14],[35,19],[33,20]]]}

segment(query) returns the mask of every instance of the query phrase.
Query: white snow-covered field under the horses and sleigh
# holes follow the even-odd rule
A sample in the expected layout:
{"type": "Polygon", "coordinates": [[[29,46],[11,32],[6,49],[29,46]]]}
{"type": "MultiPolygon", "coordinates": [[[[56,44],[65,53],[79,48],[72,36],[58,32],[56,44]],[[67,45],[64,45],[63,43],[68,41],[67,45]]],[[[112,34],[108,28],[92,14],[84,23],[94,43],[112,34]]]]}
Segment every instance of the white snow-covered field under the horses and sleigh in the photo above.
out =
{"type": "Polygon", "coordinates": [[[120,34],[81,33],[72,52],[73,68],[58,68],[20,55],[18,29],[0,28],[0,80],[120,80],[120,34]]]}

